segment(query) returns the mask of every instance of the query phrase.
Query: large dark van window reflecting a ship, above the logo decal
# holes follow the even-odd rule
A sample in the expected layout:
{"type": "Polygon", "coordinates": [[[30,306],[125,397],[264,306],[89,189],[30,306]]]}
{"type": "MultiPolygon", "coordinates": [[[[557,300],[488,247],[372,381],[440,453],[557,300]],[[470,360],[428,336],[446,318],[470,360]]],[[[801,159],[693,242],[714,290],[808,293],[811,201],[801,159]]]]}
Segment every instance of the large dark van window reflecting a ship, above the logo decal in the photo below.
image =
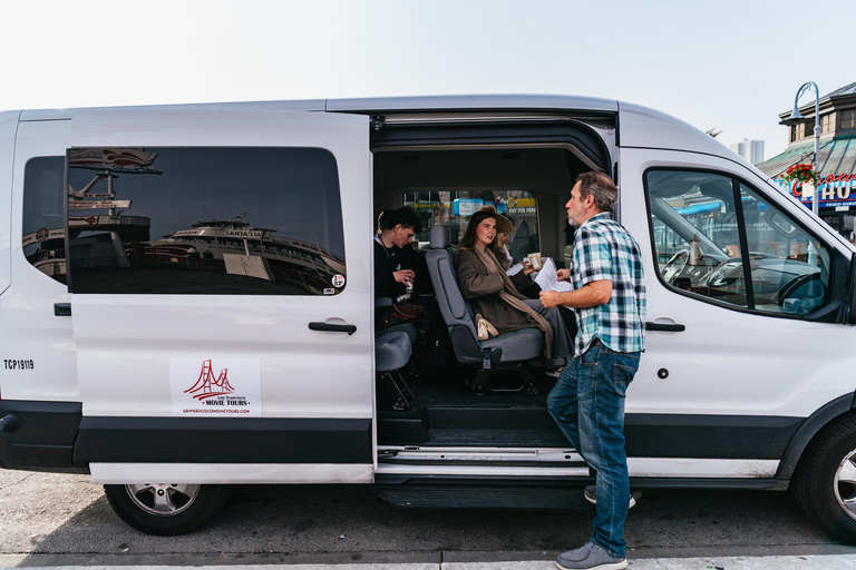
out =
{"type": "Polygon", "coordinates": [[[346,286],[333,156],[314,148],[75,148],[70,289],[334,295],[346,286]]]}

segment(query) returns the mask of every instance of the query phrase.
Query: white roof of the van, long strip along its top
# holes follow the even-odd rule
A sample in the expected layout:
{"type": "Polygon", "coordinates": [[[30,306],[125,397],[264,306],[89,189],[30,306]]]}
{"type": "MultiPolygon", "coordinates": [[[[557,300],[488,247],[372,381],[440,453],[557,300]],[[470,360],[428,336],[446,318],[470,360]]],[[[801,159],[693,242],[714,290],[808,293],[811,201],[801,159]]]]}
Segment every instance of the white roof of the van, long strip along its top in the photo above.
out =
{"type": "Polygon", "coordinates": [[[617,115],[620,147],[641,147],[692,150],[736,158],[724,145],[706,132],[667,114],[640,105],[571,95],[449,95],[425,97],[380,97],[361,99],[308,99],[290,101],[246,101],[188,105],[157,105],[113,108],[23,110],[20,120],[50,120],[72,118],[76,114],[93,114],[104,109],[111,112],[157,110],[305,110],[328,112],[567,112],[583,111],[592,115],[617,115]]]}

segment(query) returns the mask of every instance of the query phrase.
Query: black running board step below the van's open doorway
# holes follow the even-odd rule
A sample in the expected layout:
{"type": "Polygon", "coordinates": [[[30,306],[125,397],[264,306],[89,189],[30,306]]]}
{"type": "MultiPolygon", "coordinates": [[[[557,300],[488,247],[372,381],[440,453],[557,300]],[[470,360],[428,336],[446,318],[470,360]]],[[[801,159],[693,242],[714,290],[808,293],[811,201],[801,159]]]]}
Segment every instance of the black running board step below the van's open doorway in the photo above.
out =
{"type": "Polygon", "coordinates": [[[373,491],[383,501],[408,509],[594,509],[583,498],[582,487],[380,484],[373,491]]]}

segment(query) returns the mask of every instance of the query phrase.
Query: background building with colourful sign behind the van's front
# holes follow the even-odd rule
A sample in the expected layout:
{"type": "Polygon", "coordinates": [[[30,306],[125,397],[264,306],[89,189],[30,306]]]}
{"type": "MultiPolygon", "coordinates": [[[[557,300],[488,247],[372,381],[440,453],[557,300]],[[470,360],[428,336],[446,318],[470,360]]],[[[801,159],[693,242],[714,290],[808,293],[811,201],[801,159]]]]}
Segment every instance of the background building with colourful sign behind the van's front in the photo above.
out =
{"type": "MultiPolygon", "coordinates": [[[[811,164],[815,153],[815,98],[804,97],[799,112],[807,121],[788,127],[788,148],[758,165],[770,178],[811,208],[811,196],[802,195],[802,185],[784,180],[788,167],[811,164]]],[[[790,117],[790,110],[779,114],[790,117]]],[[[856,217],[856,81],[820,97],[820,148],[817,159],[820,186],[817,188],[819,214],[843,236],[854,240],[856,217]]]]}

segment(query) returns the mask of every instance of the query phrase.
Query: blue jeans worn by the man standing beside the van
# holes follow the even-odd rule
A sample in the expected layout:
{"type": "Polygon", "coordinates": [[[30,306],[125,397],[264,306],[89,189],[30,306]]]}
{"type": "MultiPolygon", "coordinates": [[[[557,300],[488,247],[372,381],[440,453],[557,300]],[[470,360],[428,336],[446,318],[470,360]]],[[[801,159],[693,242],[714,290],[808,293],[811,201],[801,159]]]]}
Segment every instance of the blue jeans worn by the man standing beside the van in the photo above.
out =
{"type": "Polygon", "coordinates": [[[639,368],[638,352],[614,352],[593,343],[574,356],[547,396],[549,414],[596,472],[597,514],[592,542],[624,558],[624,520],[630,503],[624,452],[624,397],[639,368]]]}

